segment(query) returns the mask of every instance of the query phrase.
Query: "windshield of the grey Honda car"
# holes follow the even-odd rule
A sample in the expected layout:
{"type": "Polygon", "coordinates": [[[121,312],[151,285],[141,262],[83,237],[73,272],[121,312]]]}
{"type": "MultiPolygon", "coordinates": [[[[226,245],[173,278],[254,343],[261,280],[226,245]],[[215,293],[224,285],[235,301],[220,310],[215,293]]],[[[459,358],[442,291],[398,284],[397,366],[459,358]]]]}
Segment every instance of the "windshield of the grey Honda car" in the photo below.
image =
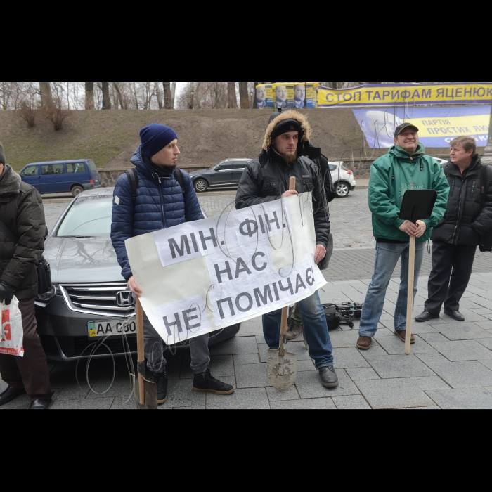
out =
{"type": "Polygon", "coordinates": [[[57,238],[108,238],[111,234],[112,197],[86,196],[75,200],[56,233],[57,238]]]}

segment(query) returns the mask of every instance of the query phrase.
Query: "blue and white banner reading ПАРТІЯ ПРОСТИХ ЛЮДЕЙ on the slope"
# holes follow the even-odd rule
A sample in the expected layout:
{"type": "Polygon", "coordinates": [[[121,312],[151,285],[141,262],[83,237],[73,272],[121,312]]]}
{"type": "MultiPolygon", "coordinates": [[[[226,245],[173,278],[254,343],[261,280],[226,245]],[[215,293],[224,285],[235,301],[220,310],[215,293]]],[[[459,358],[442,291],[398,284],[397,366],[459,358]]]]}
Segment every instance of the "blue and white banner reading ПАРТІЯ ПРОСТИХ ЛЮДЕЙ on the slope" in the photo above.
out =
{"type": "Polygon", "coordinates": [[[420,130],[420,142],[428,148],[448,148],[458,136],[472,136],[478,147],[486,147],[491,106],[375,108],[354,110],[354,115],[370,148],[391,148],[394,131],[403,122],[414,124],[420,130]]]}

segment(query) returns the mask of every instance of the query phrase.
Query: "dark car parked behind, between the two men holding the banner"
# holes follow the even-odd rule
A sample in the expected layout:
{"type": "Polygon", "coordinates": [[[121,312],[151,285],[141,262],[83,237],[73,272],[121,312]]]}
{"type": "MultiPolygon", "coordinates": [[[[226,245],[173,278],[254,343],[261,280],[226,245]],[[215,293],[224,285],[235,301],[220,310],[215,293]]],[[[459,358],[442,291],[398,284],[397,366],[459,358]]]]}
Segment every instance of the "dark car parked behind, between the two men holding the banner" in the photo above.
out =
{"type": "Polygon", "coordinates": [[[243,171],[252,159],[226,159],[207,171],[190,174],[197,193],[205,193],[209,188],[234,188],[239,185],[243,171]]]}

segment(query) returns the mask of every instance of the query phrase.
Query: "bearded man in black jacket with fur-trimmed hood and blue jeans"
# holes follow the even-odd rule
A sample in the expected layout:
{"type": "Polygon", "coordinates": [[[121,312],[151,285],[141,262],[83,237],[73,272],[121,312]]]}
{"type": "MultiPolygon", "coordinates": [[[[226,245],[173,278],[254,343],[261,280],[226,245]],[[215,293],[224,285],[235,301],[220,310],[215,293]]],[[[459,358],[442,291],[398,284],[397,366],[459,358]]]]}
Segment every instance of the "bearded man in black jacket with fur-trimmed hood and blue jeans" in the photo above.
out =
{"type": "MultiPolygon", "coordinates": [[[[314,261],[318,264],[326,256],[330,216],[321,171],[313,161],[303,157],[310,132],[309,122],[300,112],[286,111],[273,119],[266,129],[263,152],[258,159],[247,164],[242,174],[236,208],[252,207],[311,191],[316,230],[314,261]],[[289,190],[291,177],[296,178],[295,190],[289,190]]],[[[333,366],[330,334],[318,292],[299,302],[299,307],[305,323],[304,336],[321,382],[324,387],[336,388],[339,381],[333,366]]],[[[281,315],[280,309],[263,316],[266,343],[272,350],[278,349],[281,315]]]]}

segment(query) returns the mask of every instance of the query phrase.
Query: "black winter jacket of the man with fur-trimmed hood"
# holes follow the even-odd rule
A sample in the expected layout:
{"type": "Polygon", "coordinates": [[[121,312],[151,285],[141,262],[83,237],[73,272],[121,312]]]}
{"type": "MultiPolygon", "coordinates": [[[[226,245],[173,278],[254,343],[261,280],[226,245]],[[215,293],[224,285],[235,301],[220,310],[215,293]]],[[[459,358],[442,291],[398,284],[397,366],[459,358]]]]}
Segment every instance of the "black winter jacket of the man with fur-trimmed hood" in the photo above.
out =
{"type": "Polygon", "coordinates": [[[296,178],[297,193],[313,192],[314,226],[316,243],[328,248],[330,213],[325,202],[323,179],[318,166],[307,157],[298,157],[287,164],[280,155],[264,151],[252,160],[242,174],[236,197],[236,208],[242,209],[264,202],[280,200],[289,189],[290,178],[296,178]]]}

